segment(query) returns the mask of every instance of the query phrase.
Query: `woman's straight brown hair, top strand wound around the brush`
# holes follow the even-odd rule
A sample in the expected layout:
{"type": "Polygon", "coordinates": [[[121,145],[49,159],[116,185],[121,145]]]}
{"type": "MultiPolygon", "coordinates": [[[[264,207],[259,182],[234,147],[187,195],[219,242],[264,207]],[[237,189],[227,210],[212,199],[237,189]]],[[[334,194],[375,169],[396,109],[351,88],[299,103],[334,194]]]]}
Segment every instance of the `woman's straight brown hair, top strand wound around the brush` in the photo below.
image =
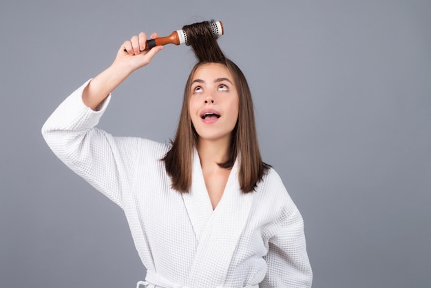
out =
{"type": "Polygon", "coordinates": [[[220,63],[224,65],[233,76],[239,96],[238,121],[233,128],[231,137],[231,149],[227,160],[219,163],[220,167],[231,168],[239,157],[239,181],[242,192],[252,192],[257,183],[262,181],[269,165],[262,161],[257,132],[253,101],[246,78],[240,68],[233,61],[227,59],[217,41],[215,41],[209,22],[197,23],[183,27],[186,30],[189,43],[198,58],[198,63],[193,67],[187,79],[182,101],[180,121],[174,141],[171,141],[171,150],[167,152],[162,161],[165,161],[167,174],[171,177],[172,188],[180,192],[189,192],[191,186],[191,169],[193,150],[198,143],[198,133],[191,123],[189,115],[189,96],[191,81],[196,70],[207,63],[220,63]],[[189,29],[189,30],[187,30],[189,29]]]}

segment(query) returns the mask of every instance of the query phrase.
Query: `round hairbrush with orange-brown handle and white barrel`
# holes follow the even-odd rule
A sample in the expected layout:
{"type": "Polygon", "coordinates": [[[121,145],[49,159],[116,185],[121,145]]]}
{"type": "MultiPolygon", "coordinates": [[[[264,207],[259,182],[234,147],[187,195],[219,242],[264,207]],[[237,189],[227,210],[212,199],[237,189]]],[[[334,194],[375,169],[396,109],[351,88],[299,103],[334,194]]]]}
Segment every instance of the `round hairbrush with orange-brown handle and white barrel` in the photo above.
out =
{"type": "MultiPolygon", "coordinates": [[[[211,30],[213,31],[213,36],[215,39],[222,36],[223,34],[223,24],[221,21],[210,21],[209,24],[211,25],[211,30]]],[[[202,23],[195,23],[189,25],[193,27],[193,25],[202,25],[202,23]]],[[[149,39],[147,40],[147,43],[145,44],[145,50],[149,50],[153,47],[156,47],[158,45],[166,45],[166,44],[185,44],[189,45],[189,42],[187,41],[187,33],[184,30],[176,30],[172,32],[167,37],[159,37],[157,39],[149,39]]]]}

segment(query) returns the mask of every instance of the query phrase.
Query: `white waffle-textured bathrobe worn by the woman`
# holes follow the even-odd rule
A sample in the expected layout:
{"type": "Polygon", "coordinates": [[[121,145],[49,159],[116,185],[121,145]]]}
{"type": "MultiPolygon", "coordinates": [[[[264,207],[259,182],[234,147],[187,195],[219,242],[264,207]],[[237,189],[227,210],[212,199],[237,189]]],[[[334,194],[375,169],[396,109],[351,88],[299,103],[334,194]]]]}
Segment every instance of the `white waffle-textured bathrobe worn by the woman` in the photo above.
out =
{"type": "Polygon", "coordinates": [[[198,154],[190,192],[171,189],[160,161],[169,144],[94,127],[110,95],[91,110],[82,101],[87,83],[61,103],[42,133],[61,161],[123,209],[149,274],[178,287],[311,287],[302,216],[274,169],[244,194],[235,163],[213,210],[198,154]]]}

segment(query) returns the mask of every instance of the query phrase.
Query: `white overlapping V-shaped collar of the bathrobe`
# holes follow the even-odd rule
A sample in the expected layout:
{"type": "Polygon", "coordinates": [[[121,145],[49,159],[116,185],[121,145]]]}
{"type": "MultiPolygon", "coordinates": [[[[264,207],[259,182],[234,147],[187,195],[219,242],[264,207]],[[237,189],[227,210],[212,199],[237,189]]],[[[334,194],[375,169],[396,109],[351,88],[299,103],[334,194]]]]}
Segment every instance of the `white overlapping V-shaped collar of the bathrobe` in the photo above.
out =
{"type": "MultiPolygon", "coordinates": [[[[192,183],[183,193],[185,207],[196,235],[198,249],[189,275],[189,285],[204,285],[199,279],[223,281],[238,240],[249,218],[255,192],[243,193],[238,181],[238,158],[213,210],[205,186],[198,152],[193,153],[192,183]],[[211,260],[209,260],[211,259],[211,260]],[[216,265],[216,267],[214,266],[216,265]]],[[[220,282],[220,285],[223,283],[220,282]]]]}

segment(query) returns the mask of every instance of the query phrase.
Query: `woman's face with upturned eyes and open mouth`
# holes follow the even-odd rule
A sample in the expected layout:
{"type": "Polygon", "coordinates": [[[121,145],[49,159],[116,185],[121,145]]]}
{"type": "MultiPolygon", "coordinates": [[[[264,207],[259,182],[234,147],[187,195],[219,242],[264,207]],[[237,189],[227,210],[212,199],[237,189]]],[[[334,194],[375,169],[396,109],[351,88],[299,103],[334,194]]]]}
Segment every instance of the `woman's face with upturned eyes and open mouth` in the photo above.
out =
{"type": "Polygon", "coordinates": [[[229,141],[238,121],[239,97],[226,66],[208,63],[193,75],[189,96],[191,122],[200,139],[229,141]]]}

